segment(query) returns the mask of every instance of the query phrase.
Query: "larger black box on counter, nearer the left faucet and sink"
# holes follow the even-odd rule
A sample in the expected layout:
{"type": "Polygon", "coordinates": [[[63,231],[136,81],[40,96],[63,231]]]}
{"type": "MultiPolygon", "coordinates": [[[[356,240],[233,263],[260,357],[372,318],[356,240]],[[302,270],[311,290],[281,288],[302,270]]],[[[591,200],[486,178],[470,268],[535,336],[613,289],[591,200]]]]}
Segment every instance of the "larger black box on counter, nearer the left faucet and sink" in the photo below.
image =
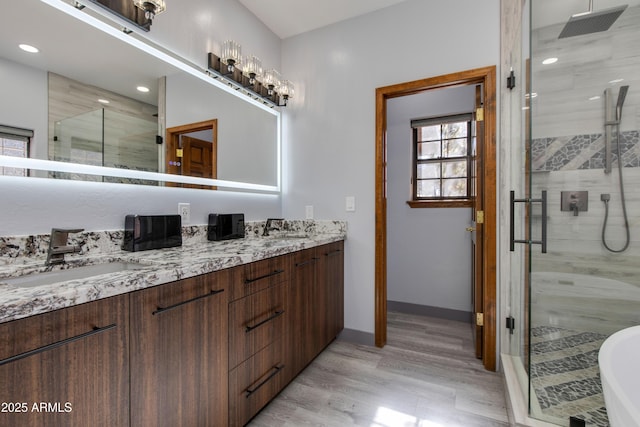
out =
{"type": "Polygon", "coordinates": [[[180,215],[127,215],[122,249],[130,252],[182,246],[180,215]]]}

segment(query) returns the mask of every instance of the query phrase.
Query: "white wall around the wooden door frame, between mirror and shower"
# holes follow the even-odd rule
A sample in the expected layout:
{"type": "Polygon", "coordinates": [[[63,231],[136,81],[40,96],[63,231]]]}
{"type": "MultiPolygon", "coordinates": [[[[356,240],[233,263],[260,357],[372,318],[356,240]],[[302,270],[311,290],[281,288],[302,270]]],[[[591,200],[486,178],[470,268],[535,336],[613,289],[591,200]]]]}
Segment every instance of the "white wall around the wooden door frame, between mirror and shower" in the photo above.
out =
{"type": "Polygon", "coordinates": [[[497,65],[499,29],[498,0],[410,0],[284,40],[283,212],[349,222],[346,328],[374,331],[375,89],[497,65]]]}

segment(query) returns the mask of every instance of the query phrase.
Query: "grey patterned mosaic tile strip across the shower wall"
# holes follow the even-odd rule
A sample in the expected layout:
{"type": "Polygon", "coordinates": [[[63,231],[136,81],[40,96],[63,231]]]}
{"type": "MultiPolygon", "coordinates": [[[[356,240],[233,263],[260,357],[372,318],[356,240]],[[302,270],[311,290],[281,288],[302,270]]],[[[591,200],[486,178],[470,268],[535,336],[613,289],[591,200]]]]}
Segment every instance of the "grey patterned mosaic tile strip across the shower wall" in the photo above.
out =
{"type": "MultiPolygon", "coordinates": [[[[620,134],[620,149],[624,167],[640,167],[639,142],[640,131],[633,130],[620,134]]],[[[543,171],[603,169],[604,151],[602,134],[538,138],[531,143],[533,169],[543,171]]],[[[617,167],[615,137],[612,151],[613,167],[617,167]]]]}

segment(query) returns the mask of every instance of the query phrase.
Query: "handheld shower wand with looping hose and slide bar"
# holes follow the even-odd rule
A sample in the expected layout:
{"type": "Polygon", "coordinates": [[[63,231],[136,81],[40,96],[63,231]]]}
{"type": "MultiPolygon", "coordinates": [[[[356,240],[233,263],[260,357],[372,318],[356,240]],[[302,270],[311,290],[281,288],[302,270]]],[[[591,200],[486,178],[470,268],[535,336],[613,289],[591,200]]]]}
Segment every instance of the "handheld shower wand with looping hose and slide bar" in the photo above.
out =
{"type": "MultiPolygon", "coordinates": [[[[604,202],[604,222],[602,224],[602,244],[604,245],[604,247],[610,251],[610,252],[614,252],[614,253],[620,253],[620,252],[624,252],[627,250],[627,248],[629,247],[629,243],[631,242],[631,234],[629,231],[629,218],[627,216],[627,202],[624,196],[624,181],[622,180],[622,168],[624,167],[624,164],[622,163],[622,149],[620,148],[620,121],[622,120],[622,105],[624,104],[624,100],[627,96],[627,92],[629,91],[629,86],[621,86],[620,90],[618,91],[618,102],[616,103],[616,110],[615,110],[615,121],[609,121],[609,116],[611,115],[610,112],[608,111],[609,109],[609,101],[608,98],[610,96],[609,89],[605,90],[605,127],[607,126],[615,126],[616,127],[616,148],[617,148],[617,155],[618,155],[618,176],[620,178],[620,199],[622,200],[622,214],[624,216],[624,228],[626,231],[626,240],[625,240],[625,244],[622,247],[622,249],[612,249],[609,245],[607,245],[607,241],[605,238],[605,233],[607,230],[607,219],[609,218],[609,195],[608,194],[602,194],[600,195],[600,200],[602,200],[604,202]]],[[[607,135],[610,135],[610,132],[607,130],[606,132],[607,135]]],[[[606,138],[607,140],[605,141],[605,145],[607,145],[606,147],[606,151],[607,151],[607,164],[605,165],[605,173],[609,173],[611,172],[611,141],[609,140],[609,138],[606,138]]]]}

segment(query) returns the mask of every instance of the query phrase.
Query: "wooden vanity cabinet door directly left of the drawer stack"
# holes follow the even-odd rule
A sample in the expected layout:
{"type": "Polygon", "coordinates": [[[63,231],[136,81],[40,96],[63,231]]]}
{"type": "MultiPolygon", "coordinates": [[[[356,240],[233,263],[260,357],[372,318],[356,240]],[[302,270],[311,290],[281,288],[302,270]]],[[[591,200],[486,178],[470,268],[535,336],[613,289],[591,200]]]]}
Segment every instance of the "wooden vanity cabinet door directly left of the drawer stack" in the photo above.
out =
{"type": "Polygon", "coordinates": [[[228,423],[225,272],[131,294],[131,425],[228,423]]]}

